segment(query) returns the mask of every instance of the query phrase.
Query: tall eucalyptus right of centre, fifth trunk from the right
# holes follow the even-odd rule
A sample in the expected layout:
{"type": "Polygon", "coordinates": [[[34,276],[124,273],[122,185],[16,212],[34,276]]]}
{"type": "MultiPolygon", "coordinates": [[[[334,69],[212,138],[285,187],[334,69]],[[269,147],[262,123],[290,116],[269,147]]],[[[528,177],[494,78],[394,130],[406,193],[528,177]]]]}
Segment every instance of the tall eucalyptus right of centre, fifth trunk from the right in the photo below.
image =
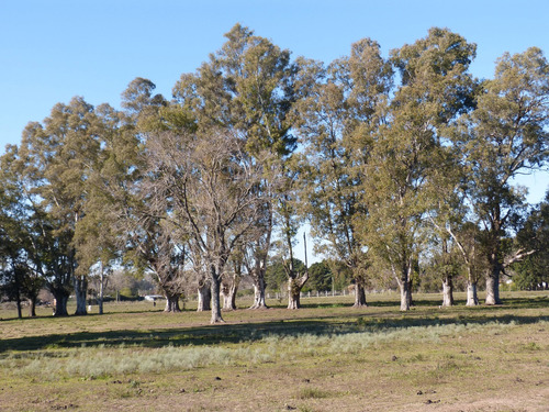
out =
{"type": "Polygon", "coordinates": [[[352,44],[350,56],[326,69],[309,66],[312,90],[296,104],[304,144],[302,197],[317,249],[337,256],[350,268],[355,307],[366,305],[368,240],[357,235],[357,221],[368,219],[361,201],[377,110],[388,99],[392,69],[380,46],[369,38],[352,44]]]}

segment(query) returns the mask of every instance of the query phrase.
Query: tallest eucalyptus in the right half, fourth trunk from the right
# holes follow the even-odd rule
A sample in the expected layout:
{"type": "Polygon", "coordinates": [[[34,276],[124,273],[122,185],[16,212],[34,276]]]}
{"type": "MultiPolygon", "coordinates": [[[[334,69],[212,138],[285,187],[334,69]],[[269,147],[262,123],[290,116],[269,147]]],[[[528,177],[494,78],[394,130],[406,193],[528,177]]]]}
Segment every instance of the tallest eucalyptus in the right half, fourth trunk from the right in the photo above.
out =
{"type": "Polygon", "coordinates": [[[392,52],[401,83],[381,109],[386,122],[372,134],[366,165],[363,235],[381,256],[401,290],[401,310],[412,302],[412,274],[427,240],[429,175],[444,158],[447,127],[470,104],[467,73],[475,46],[448,30],[392,52]]]}

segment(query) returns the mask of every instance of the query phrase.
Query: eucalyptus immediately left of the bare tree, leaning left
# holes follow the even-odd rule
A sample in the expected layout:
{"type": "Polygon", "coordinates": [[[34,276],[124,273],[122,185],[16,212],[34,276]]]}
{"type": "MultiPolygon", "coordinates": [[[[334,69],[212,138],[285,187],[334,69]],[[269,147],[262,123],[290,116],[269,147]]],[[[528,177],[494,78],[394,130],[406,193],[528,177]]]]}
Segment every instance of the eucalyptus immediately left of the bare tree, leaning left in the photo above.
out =
{"type": "Polygon", "coordinates": [[[170,188],[150,142],[188,121],[161,94],[154,94],[155,88],[150,80],[136,78],[122,93],[124,112],[102,179],[121,216],[113,224],[125,263],[152,271],[166,297],[165,312],[179,312],[188,282],[187,233],[172,219],[170,188]]]}

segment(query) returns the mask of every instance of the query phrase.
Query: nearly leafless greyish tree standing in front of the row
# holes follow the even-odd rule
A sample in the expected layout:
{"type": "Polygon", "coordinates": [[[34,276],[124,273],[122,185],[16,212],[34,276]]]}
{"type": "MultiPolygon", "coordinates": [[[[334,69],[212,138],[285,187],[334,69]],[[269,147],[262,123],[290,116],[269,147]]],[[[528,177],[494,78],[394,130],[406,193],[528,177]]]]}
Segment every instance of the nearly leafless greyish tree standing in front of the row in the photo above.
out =
{"type": "Polygon", "coordinates": [[[165,132],[147,140],[149,172],[159,176],[152,201],[169,199],[165,219],[189,236],[209,274],[212,323],[223,322],[220,304],[222,277],[240,241],[258,218],[255,188],[261,168],[231,132],[165,132]]]}

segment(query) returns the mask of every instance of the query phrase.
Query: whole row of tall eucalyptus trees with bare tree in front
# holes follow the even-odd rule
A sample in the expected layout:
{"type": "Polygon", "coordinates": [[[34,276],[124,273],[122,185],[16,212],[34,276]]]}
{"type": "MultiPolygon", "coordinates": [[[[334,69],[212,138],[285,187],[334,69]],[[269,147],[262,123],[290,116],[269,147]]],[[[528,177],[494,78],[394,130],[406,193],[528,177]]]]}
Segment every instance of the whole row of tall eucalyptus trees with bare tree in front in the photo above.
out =
{"type": "Polygon", "coordinates": [[[254,309],[268,279],[283,278],[298,309],[307,280],[330,290],[345,272],[363,307],[389,277],[403,311],[422,277],[445,305],[458,277],[468,305],[482,280],[486,304],[501,303],[504,274],[525,288],[549,280],[549,197],[528,204],[515,182],[548,162],[540,49],[504,54],[478,79],[477,46],[447,29],[389,57],[363,38],[329,64],[239,24],[225,36],[171,100],[136,78],[120,110],[76,97],[7,147],[0,282],[20,316],[41,288],[56,315],[70,294],[86,314],[90,280],[103,290],[120,267],[154,274],[167,312],[195,285],[212,323],[244,275],[254,309]],[[326,257],[311,267],[294,253],[304,224],[326,257]]]}

